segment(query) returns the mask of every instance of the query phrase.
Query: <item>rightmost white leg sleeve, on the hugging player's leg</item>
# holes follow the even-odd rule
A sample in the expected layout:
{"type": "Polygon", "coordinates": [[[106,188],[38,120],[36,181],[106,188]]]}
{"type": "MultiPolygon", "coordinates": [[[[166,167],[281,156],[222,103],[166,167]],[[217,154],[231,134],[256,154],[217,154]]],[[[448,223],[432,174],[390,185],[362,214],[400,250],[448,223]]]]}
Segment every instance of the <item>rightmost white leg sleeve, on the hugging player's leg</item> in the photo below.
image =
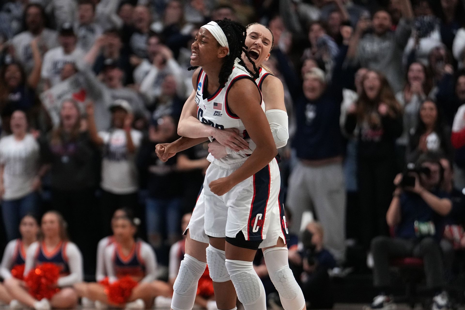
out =
{"type": "Polygon", "coordinates": [[[289,268],[286,247],[275,247],[263,251],[266,269],[285,310],[301,310],[305,306],[302,290],[289,268]]]}

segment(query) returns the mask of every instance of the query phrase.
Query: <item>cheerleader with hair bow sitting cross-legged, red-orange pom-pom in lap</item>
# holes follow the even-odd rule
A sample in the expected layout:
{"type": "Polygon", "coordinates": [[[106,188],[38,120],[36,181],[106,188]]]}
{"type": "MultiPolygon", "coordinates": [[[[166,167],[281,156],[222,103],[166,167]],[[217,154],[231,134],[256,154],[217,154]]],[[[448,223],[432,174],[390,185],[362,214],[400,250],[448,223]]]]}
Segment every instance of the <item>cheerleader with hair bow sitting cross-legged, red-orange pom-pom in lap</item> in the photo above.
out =
{"type": "Polygon", "coordinates": [[[134,238],[139,224],[140,219],[133,218],[129,211],[126,216],[115,218],[112,223],[115,241],[104,251],[108,278],[100,283],[79,284],[82,296],[95,301],[98,309],[107,305],[145,309],[152,305],[154,297],[172,293],[168,284],[155,281],[157,263],[151,246],[134,238]],[[125,289],[128,286],[133,288],[125,289]],[[115,290],[117,293],[113,293],[115,290]]]}

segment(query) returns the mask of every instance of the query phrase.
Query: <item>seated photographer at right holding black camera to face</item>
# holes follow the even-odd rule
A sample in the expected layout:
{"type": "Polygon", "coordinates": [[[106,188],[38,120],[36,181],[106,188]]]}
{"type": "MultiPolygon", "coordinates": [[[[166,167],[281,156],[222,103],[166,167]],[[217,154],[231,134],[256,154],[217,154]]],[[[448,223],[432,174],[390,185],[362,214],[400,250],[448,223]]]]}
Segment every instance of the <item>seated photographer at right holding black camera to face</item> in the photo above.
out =
{"type": "Polygon", "coordinates": [[[452,208],[449,195],[439,187],[443,167],[430,153],[422,155],[415,169],[399,174],[397,186],[386,221],[394,228],[395,237],[376,237],[372,241],[374,260],[373,282],[379,295],[373,299],[372,309],[392,304],[389,297],[389,261],[394,257],[419,257],[424,261],[426,283],[434,294],[437,308],[446,309],[447,296],[441,293],[444,285],[443,263],[439,241],[444,231],[444,216],[452,208]]]}

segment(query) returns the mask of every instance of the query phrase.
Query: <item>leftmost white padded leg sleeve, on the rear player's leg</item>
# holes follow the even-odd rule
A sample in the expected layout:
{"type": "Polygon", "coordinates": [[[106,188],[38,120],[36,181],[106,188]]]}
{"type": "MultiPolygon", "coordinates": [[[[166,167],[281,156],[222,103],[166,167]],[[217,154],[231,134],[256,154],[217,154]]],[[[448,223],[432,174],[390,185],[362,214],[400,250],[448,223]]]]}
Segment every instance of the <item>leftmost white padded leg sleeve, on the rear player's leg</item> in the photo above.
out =
{"type": "Polygon", "coordinates": [[[184,260],[179,267],[178,277],[173,285],[173,300],[171,309],[190,310],[194,306],[197,295],[197,284],[204,273],[206,263],[184,254],[184,260]]]}

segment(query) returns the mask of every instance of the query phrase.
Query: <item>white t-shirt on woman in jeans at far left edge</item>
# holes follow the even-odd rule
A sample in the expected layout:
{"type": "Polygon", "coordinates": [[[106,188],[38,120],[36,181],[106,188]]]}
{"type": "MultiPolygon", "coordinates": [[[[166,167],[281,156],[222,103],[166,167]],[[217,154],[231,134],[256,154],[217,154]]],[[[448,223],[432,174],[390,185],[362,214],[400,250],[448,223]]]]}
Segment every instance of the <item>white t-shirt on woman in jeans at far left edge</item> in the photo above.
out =
{"type": "Polygon", "coordinates": [[[21,141],[13,135],[0,139],[0,163],[5,166],[3,199],[17,199],[32,192],[38,161],[39,144],[33,135],[27,134],[21,141]]]}

